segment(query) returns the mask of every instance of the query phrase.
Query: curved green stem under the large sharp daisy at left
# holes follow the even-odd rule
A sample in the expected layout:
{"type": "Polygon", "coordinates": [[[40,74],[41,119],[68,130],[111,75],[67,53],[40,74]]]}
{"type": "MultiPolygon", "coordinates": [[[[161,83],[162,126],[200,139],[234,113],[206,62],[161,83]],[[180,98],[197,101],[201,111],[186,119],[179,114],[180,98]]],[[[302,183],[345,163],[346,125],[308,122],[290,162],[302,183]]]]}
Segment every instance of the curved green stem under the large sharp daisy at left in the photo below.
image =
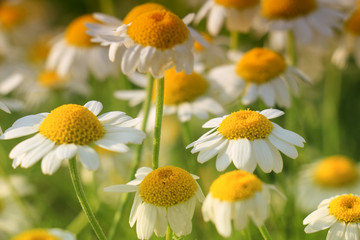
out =
{"type": "Polygon", "coordinates": [[[77,163],[76,163],[75,158],[72,158],[69,160],[69,170],[70,170],[71,181],[73,183],[76,196],[79,200],[81,208],[83,209],[85,215],[87,216],[87,218],[89,220],[91,227],[93,228],[93,230],[96,233],[96,236],[98,237],[99,240],[106,240],[106,236],[105,236],[99,222],[95,218],[95,215],[92,212],[90,205],[86,199],[84,188],[81,184],[79,172],[77,170],[77,163]]]}

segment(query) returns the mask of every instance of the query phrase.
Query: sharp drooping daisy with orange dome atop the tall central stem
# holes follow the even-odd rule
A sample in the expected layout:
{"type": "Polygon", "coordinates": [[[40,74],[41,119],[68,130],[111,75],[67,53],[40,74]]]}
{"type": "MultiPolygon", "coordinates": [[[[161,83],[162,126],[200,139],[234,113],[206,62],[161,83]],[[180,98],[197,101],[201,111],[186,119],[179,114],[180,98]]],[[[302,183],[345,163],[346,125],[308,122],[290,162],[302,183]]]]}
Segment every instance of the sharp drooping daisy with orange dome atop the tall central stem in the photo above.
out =
{"type": "Polygon", "coordinates": [[[200,34],[186,26],[192,17],[188,15],[182,21],[167,10],[148,11],[98,37],[110,45],[110,57],[116,55],[119,47],[127,48],[121,61],[122,72],[126,75],[132,75],[137,69],[162,78],[165,70],[173,66],[177,72],[185,70],[190,74],[194,65],[194,37],[203,42],[200,34]]]}

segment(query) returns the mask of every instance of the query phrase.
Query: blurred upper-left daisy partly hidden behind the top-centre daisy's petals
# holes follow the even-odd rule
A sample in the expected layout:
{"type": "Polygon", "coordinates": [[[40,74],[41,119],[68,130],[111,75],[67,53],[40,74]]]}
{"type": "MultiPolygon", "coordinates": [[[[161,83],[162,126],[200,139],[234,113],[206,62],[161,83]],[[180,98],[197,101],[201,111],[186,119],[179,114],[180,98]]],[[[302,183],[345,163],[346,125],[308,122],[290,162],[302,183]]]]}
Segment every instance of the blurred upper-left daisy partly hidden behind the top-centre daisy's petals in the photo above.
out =
{"type": "Polygon", "coordinates": [[[73,20],[65,33],[51,47],[47,68],[60,76],[69,71],[93,74],[98,80],[118,74],[118,67],[109,61],[107,49],[91,42],[85,23],[98,23],[91,14],[73,20]]]}

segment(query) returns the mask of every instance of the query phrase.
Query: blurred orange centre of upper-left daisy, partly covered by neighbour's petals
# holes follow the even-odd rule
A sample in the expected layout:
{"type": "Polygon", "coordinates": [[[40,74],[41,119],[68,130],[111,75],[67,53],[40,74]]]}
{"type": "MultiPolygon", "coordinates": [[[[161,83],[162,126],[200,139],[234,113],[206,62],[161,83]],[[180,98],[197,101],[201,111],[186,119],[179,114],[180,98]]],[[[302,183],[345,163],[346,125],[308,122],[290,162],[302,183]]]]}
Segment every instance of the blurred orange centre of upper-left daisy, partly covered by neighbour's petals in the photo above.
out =
{"type": "Polygon", "coordinates": [[[77,47],[91,47],[95,43],[90,41],[91,36],[89,36],[86,31],[88,30],[85,26],[85,23],[100,23],[96,20],[91,14],[83,15],[76,18],[72,21],[65,31],[65,39],[69,45],[77,47]]]}

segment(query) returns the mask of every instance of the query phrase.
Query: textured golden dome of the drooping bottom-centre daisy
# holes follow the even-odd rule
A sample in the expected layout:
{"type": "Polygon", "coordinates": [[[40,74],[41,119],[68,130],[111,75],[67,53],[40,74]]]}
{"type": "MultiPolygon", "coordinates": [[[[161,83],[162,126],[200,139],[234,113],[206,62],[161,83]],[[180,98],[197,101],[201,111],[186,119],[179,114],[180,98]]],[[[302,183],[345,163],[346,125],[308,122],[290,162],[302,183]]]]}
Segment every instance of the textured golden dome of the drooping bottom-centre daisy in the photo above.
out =
{"type": "Polygon", "coordinates": [[[144,202],[161,207],[186,202],[196,191],[197,184],[190,173],[173,166],[155,169],[139,186],[139,193],[144,202]]]}

